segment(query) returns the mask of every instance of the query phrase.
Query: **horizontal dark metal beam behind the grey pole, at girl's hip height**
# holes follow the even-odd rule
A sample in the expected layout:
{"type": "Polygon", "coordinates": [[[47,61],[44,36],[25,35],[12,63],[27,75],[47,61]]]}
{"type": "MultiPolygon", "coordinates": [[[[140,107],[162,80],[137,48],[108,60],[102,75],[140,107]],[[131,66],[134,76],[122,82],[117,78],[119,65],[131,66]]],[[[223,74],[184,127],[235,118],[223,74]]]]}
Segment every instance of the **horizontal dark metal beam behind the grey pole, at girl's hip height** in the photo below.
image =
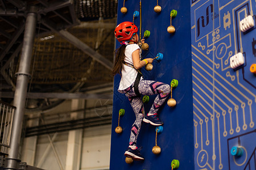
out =
{"type": "MultiPolygon", "coordinates": [[[[1,92],[2,98],[13,98],[14,92],[1,92]]],[[[28,92],[28,99],[113,99],[113,94],[84,94],[84,93],[36,93],[28,92]]]]}

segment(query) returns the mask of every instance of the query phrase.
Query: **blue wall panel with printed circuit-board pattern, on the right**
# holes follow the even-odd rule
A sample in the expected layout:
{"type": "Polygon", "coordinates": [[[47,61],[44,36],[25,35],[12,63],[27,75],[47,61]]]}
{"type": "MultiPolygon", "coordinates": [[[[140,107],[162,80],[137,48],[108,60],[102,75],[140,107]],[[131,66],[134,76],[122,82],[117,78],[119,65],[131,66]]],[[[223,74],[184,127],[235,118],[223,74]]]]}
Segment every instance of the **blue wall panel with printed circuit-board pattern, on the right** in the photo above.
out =
{"type": "Polygon", "coordinates": [[[195,169],[256,169],[256,29],[240,30],[255,14],[255,0],[191,1],[195,169]],[[232,69],[237,53],[245,63],[232,69]]]}

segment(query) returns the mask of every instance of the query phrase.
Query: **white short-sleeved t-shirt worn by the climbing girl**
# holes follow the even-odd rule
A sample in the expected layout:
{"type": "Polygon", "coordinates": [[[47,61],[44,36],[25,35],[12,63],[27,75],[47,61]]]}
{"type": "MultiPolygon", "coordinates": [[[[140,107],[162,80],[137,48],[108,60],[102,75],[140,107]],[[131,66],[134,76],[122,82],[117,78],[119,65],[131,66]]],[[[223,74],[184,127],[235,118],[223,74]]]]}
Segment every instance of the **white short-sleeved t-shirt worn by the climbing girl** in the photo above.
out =
{"type": "MultiPolygon", "coordinates": [[[[131,56],[131,54],[133,54],[133,52],[137,49],[140,49],[139,45],[137,45],[137,44],[127,45],[125,48],[124,61],[133,65],[133,57],[131,56]]],[[[141,55],[140,55],[140,59],[141,59],[141,55]]],[[[125,90],[126,88],[130,87],[131,84],[133,84],[135,82],[137,74],[138,74],[138,71],[136,69],[123,64],[122,78],[119,83],[118,91],[121,92],[122,90],[125,90]]]]}

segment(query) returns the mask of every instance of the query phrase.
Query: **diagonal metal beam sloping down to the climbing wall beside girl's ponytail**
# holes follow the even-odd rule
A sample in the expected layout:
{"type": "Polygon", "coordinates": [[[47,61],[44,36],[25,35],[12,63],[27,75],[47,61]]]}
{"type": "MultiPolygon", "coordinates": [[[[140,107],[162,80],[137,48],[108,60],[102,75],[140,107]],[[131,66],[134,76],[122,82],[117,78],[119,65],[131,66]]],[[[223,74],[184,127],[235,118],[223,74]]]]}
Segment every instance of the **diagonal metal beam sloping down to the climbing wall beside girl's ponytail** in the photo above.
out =
{"type": "Polygon", "coordinates": [[[75,45],[77,48],[82,50],[85,54],[88,54],[90,57],[94,58],[96,61],[100,62],[107,69],[111,70],[113,67],[113,63],[103,57],[100,53],[97,53],[94,49],[90,48],[90,46],[86,45],[84,42],[79,40],[77,37],[73,36],[70,32],[65,30],[57,31],[56,25],[49,20],[42,19],[42,23],[46,25],[53,32],[58,33],[61,37],[71,42],[71,44],[75,45]]]}

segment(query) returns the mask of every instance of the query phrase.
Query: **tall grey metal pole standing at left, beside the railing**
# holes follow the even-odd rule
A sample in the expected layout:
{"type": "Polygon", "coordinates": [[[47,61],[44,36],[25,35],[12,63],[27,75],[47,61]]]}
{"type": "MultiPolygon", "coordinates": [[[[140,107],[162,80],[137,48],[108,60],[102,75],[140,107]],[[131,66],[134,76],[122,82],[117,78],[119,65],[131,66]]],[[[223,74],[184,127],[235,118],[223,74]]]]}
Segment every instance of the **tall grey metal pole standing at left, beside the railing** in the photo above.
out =
{"type": "MultiPolygon", "coordinates": [[[[16,107],[16,111],[14,114],[13,121],[13,130],[11,132],[11,143],[9,150],[9,157],[7,163],[7,169],[15,169],[17,168],[18,160],[18,151],[19,151],[19,142],[20,135],[22,131],[22,121],[25,110],[25,101],[27,96],[27,84],[28,79],[30,78],[30,65],[32,58],[32,47],[34,44],[35,38],[35,29],[36,29],[36,17],[37,16],[37,8],[35,6],[31,6],[30,10],[28,10],[24,38],[23,38],[23,47],[22,54],[20,57],[19,63],[19,71],[16,73],[16,90],[14,95],[14,106],[16,107]]],[[[17,168],[18,169],[18,168],[17,168]]]]}

